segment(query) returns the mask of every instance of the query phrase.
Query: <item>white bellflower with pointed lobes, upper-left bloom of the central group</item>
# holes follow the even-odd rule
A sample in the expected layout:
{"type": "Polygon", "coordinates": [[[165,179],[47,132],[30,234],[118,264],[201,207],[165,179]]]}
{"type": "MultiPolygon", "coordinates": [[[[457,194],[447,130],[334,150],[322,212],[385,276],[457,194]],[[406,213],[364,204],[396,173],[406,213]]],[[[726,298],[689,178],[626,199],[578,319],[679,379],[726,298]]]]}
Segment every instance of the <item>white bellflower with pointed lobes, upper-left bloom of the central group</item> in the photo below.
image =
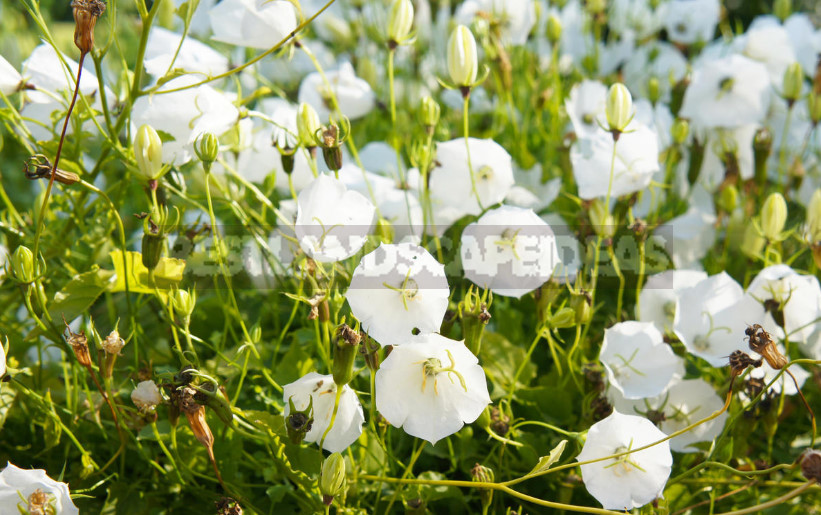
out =
{"type": "Polygon", "coordinates": [[[296,237],[313,259],[331,263],[356,254],[373,226],[375,208],[361,193],[327,174],[297,197],[296,237]]]}

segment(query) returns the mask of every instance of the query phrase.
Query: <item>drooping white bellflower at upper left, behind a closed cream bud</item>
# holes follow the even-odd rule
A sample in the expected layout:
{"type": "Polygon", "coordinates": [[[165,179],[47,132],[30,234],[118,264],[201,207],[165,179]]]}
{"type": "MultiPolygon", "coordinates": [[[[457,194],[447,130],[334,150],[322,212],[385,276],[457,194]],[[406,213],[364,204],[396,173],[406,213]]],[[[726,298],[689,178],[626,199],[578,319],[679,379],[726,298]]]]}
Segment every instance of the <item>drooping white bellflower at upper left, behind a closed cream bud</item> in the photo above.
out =
{"type": "Polygon", "coordinates": [[[196,81],[193,75],[179,77],[163,84],[157,93],[141,96],[134,102],[131,114],[133,130],[147,124],[172,138],[164,138],[163,163],[187,163],[194,156],[194,142],[202,133],[211,132],[219,136],[239,119],[239,110],[232,99],[211,86],[161,93],[196,81]]]}

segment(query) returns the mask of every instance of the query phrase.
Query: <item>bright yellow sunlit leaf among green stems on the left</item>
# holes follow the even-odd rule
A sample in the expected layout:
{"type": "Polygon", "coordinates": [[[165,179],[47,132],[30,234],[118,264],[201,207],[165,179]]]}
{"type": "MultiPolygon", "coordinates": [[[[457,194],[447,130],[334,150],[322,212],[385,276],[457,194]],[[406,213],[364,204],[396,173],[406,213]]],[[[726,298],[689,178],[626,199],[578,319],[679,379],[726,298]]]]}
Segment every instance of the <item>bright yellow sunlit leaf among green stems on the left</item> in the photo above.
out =
{"type": "MultiPolygon", "coordinates": [[[[125,291],[126,273],[123,270],[123,253],[121,250],[115,250],[109,256],[114,264],[114,272],[117,274],[117,279],[111,285],[110,291],[125,291]]],[[[163,301],[166,300],[168,290],[179,286],[185,271],[185,261],[182,259],[160,258],[160,262],[154,269],[152,282],[148,269],[143,265],[142,254],[129,250],[125,261],[128,267],[128,290],[136,293],[155,293],[162,297],[163,301]]]]}

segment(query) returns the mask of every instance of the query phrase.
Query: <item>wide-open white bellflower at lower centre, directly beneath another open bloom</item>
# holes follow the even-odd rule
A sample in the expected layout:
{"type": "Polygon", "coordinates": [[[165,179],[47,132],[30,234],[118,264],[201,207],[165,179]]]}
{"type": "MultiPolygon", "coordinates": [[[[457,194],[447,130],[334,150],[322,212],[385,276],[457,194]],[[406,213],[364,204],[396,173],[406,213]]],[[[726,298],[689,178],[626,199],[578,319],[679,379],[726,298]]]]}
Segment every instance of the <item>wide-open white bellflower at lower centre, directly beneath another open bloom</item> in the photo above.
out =
{"type": "Polygon", "coordinates": [[[376,409],[394,427],[435,444],[490,403],[485,372],[464,342],[412,336],[376,371],[376,409]]]}

